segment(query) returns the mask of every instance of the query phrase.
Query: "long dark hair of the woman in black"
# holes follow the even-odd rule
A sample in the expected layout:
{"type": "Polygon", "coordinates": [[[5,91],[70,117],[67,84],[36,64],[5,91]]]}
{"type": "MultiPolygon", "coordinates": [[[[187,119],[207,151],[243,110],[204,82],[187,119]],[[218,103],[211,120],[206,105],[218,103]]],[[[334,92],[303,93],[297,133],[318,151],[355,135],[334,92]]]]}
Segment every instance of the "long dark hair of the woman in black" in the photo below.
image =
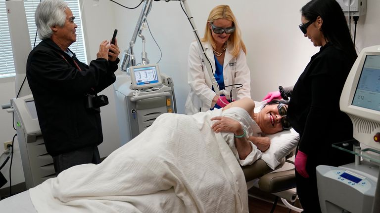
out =
{"type": "Polygon", "coordinates": [[[311,0],[301,9],[302,16],[307,20],[316,20],[320,16],[323,20],[321,31],[338,49],[343,50],[353,61],[356,60],[355,45],[347,26],[346,18],[336,0],[311,0]]]}

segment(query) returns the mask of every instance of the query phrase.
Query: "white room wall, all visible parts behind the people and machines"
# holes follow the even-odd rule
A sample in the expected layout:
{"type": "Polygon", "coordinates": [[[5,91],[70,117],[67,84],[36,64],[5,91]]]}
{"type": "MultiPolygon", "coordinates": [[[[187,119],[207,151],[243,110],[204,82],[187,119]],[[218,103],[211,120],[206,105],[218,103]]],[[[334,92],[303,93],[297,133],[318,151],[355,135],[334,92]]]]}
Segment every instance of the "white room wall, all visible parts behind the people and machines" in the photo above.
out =
{"type": "MultiPolygon", "coordinates": [[[[277,90],[279,85],[293,85],[310,57],[318,52],[309,39],[303,37],[298,25],[301,23],[300,8],[308,0],[188,0],[190,10],[200,36],[203,36],[209,11],[218,4],[229,4],[237,16],[247,46],[248,66],[251,70],[251,94],[261,100],[267,92],[277,90]]],[[[110,39],[117,28],[118,43],[123,52],[132,38],[141,7],[130,10],[109,0],[81,0],[84,2],[83,20],[89,60],[95,59],[99,43],[110,39]],[[93,6],[97,3],[98,6],[93,6]]],[[[118,0],[133,7],[140,0],[118,0]]],[[[358,52],[367,46],[380,44],[380,1],[367,0],[367,15],[360,17],[356,44],[358,52]]],[[[148,23],[153,36],[162,49],[159,65],[162,72],[174,79],[178,111],[184,112],[189,86],[187,84],[187,55],[190,42],[194,40],[190,24],[178,1],[154,1],[148,23]]],[[[353,30],[353,27],[352,27],[353,30]]],[[[150,63],[159,59],[159,50],[148,31],[146,52],[150,63]]],[[[141,55],[141,39],[135,45],[135,54],[141,55]]],[[[121,55],[120,55],[121,57],[121,55]]],[[[141,59],[138,57],[138,61],[141,59]]],[[[118,71],[117,73],[121,73],[118,71]]],[[[0,103],[8,103],[14,97],[14,82],[0,79],[0,103]]],[[[110,104],[102,107],[104,142],[100,145],[101,156],[108,155],[120,145],[113,88],[102,92],[110,104]]],[[[11,114],[0,111],[0,137],[2,142],[12,139],[15,131],[11,126],[11,114]]],[[[0,144],[2,147],[2,144],[0,144]]],[[[1,148],[0,148],[1,149],[1,148]]],[[[0,150],[1,152],[1,150],[0,150]]],[[[3,162],[5,156],[0,158],[3,162]]],[[[12,166],[12,185],[24,181],[19,152],[12,166]]],[[[9,165],[9,163],[8,163],[9,165]]],[[[7,166],[8,166],[7,165],[7,166]]],[[[6,175],[8,167],[1,172],[6,175]]],[[[6,175],[7,176],[7,175],[6,175]]],[[[7,185],[6,185],[7,186],[7,185]]]]}

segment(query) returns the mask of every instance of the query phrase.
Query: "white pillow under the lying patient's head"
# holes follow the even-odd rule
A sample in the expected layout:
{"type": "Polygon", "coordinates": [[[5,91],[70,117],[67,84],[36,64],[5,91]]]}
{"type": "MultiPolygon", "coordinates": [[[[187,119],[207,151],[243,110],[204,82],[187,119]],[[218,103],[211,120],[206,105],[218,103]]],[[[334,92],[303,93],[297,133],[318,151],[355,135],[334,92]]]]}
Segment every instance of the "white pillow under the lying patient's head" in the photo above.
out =
{"type": "Polygon", "coordinates": [[[261,159],[273,170],[281,164],[286,155],[297,147],[299,141],[299,134],[293,128],[265,137],[270,138],[271,144],[263,152],[261,159]]]}

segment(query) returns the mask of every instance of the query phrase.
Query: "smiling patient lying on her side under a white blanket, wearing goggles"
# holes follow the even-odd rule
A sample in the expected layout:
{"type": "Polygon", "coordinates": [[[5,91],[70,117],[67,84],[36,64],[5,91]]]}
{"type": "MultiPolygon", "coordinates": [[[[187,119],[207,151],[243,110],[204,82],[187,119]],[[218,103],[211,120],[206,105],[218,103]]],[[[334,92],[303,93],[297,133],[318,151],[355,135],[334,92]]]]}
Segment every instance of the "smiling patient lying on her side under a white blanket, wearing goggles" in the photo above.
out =
{"type": "Polygon", "coordinates": [[[162,114],[100,164],[31,188],[33,205],[39,213],[247,213],[239,162],[260,158],[269,145],[260,134],[287,127],[286,106],[254,107],[243,99],[194,115],[162,114]]]}

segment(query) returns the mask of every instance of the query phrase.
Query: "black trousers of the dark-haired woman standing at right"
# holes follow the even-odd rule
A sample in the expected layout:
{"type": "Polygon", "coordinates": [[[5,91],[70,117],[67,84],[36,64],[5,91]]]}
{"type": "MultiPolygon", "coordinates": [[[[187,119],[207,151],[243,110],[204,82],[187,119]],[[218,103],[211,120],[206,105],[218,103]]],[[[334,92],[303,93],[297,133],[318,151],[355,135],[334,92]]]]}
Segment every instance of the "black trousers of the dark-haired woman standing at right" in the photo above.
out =
{"type": "Polygon", "coordinates": [[[295,171],[295,180],[297,184],[297,195],[301,203],[303,213],[321,213],[319,205],[317,174],[308,171],[309,178],[303,178],[297,170],[295,171]]]}

